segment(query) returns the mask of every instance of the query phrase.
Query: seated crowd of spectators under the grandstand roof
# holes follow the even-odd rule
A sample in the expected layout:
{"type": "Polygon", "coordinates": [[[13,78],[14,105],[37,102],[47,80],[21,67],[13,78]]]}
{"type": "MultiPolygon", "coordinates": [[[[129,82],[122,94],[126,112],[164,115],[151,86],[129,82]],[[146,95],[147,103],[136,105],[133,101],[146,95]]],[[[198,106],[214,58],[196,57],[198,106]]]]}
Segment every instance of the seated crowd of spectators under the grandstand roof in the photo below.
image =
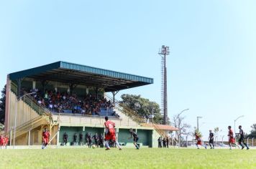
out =
{"type": "Polygon", "coordinates": [[[42,93],[37,89],[29,92],[35,92],[32,95],[35,100],[51,112],[119,117],[114,112],[114,105],[110,100],[107,101],[102,96],[86,95],[82,98],[78,97],[76,93],[70,94],[70,92],[56,92],[55,90],[45,90],[42,93]]]}

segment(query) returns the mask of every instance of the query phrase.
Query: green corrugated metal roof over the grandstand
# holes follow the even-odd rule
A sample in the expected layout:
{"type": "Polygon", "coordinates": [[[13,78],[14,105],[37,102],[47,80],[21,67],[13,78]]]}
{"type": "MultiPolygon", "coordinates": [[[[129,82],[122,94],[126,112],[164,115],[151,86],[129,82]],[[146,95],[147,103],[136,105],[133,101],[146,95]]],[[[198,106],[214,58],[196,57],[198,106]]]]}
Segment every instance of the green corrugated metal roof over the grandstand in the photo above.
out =
{"type": "Polygon", "coordinates": [[[36,80],[51,80],[104,87],[106,92],[124,90],[153,83],[153,79],[149,77],[88,67],[63,61],[9,74],[9,78],[12,80],[26,77],[36,80]]]}

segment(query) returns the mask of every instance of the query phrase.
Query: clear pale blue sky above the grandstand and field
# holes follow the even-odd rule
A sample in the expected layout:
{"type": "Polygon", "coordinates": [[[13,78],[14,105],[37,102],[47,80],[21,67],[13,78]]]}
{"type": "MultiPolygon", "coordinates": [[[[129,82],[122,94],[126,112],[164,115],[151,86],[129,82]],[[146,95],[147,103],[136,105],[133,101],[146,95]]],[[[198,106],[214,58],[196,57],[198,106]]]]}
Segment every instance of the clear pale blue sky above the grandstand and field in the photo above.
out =
{"type": "MultiPolygon", "coordinates": [[[[6,75],[59,60],[152,77],[119,93],[160,103],[162,44],[168,115],[208,130],[256,122],[256,1],[0,1],[0,87],[6,75]],[[204,123],[205,122],[205,123],[204,123]]],[[[227,140],[227,137],[225,137],[227,140]]]]}

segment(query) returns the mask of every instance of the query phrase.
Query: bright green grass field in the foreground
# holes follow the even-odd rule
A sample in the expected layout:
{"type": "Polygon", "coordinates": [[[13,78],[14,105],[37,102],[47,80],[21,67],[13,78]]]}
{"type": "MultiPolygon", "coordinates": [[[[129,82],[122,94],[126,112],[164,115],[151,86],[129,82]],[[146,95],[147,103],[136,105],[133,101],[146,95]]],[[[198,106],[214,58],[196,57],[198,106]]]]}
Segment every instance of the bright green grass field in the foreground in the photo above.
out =
{"type": "Polygon", "coordinates": [[[0,150],[0,168],[256,168],[256,150],[0,150]]]}

